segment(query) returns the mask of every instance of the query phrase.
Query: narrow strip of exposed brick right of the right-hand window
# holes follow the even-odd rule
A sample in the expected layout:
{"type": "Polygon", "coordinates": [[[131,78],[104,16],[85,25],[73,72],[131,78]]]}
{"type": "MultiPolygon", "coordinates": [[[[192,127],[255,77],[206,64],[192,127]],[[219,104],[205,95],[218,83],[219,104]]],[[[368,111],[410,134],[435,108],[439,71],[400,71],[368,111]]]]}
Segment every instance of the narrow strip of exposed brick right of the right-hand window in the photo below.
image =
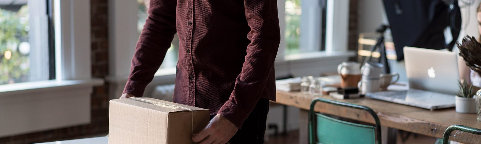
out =
{"type": "Polygon", "coordinates": [[[357,3],[359,0],[349,1],[349,36],[348,36],[348,49],[354,50],[356,56],[350,58],[351,61],[357,61],[357,3]]]}

